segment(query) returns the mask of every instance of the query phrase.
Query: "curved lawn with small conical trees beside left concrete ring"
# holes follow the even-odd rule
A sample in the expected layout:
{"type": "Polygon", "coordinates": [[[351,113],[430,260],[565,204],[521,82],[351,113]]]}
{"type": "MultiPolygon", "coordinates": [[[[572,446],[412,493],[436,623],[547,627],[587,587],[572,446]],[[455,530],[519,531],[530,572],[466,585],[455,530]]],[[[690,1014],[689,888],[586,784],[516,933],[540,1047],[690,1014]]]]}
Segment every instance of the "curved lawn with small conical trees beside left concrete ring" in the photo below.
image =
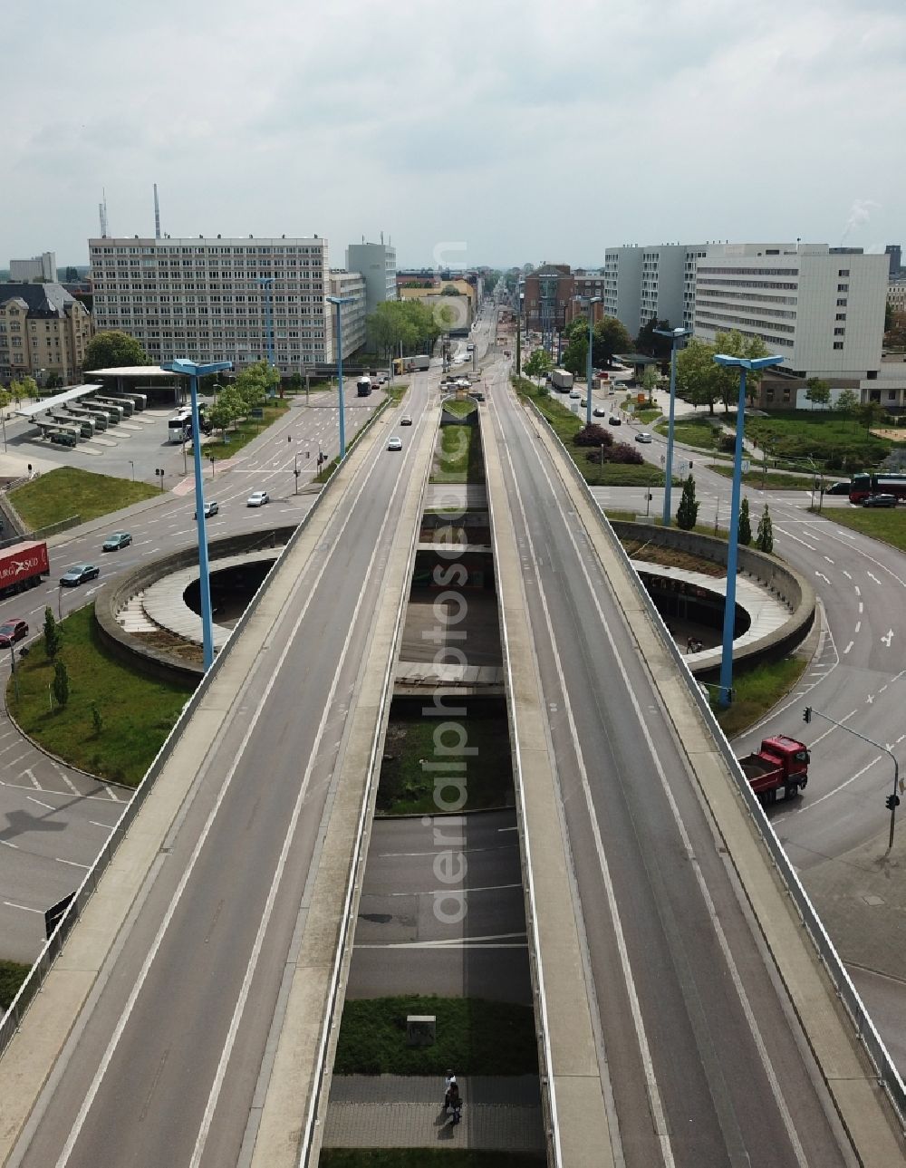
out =
{"type": "Polygon", "coordinates": [[[61,624],[60,660],[69,674],[69,701],[53,701],[54,666],[43,637],[35,638],[16,663],[19,697],[7,682],[9,711],[25,732],[46,750],[99,778],[135,786],[160,750],[191,687],[133,673],[109,655],[86,604],[61,624]],[[102,729],[95,726],[96,703],[102,729]]]}

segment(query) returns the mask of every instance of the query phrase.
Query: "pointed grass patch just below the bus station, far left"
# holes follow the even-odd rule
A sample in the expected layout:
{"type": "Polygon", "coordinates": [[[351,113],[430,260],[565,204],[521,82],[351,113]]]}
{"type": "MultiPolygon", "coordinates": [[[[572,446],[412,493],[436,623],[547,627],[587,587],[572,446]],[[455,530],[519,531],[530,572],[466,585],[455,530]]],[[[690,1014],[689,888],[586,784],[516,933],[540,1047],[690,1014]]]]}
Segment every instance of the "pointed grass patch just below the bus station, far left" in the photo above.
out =
{"type": "Polygon", "coordinates": [[[152,499],[159,488],[75,466],[60,466],[9,492],[13,506],[34,531],[75,519],[83,523],[152,499]]]}

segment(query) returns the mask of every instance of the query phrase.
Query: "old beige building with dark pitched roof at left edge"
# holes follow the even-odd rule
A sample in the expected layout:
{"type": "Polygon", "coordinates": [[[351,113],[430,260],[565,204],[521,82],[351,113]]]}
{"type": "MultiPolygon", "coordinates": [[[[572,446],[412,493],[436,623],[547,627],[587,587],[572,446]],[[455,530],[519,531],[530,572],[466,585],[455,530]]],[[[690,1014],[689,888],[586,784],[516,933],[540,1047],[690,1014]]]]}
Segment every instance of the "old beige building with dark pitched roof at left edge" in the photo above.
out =
{"type": "Polygon", "coordinates": [[[0,284],[0,381],[82,375],[91,314],[60,284],[0,284]]]}

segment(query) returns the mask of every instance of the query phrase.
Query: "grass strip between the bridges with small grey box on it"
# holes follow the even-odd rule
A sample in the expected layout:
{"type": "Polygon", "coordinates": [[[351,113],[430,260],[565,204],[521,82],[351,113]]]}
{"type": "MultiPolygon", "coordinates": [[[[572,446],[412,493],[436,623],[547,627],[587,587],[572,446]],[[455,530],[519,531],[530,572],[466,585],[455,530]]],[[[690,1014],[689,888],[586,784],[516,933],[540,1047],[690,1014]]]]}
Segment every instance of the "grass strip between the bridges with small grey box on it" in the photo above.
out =
{"type": "Polygon", "coordinates": [[[538,1048],[531,1006],[480,997],[346,1000],[335,1075],[536,1075],[538,1048]],[[406,1015],[433,1014],[437,1041],[410,1047],[406,1015]]]}

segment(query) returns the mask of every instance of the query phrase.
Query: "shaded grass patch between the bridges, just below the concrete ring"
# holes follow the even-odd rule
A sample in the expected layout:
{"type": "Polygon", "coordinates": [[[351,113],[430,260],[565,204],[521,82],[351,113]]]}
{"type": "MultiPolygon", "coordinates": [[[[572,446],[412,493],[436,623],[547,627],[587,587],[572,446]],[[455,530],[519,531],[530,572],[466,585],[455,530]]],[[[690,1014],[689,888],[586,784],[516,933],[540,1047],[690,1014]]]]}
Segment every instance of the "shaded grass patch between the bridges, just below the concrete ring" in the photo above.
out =
{"type": "MultiPolygon", "coordinates": [[[[425,770],[421,760],[432,762],[438,746],[453,745],[451,738],[435,744],[438,724],[434,718],[390,719],[377,791],[378,814],[414,815],[437,811],[434,781],[440,783],[437,777],[442,772],[425,770]]],[[[457,783],[461,783],[466,792],[464,811],[511,807],[513,766],[506,718],[466,717],[460,724],[466,735],[465,746],[474,751],[455,758],[457,764],[465,766],[464,771],[455,772],[457,783]]],[[[457,791],[448,787],[440,794],[452,802],[457,791]]]]}

